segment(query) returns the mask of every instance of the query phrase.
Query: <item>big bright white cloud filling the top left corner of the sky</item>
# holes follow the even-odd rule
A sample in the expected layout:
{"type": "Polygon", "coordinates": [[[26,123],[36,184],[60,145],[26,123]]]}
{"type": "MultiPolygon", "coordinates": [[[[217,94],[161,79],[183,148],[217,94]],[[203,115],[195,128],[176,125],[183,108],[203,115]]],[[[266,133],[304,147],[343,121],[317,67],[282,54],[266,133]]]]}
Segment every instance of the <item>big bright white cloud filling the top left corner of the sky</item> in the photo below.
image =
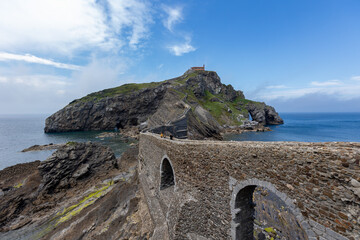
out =
{"type": "Polygon", "coordinates": [[[146,38],[151,14],[142,0],[0,1],[0,50],[55,52],[96,47],[119,50],[146,38]],[[109,21],[110,19],[110,21],[109,21]]]}

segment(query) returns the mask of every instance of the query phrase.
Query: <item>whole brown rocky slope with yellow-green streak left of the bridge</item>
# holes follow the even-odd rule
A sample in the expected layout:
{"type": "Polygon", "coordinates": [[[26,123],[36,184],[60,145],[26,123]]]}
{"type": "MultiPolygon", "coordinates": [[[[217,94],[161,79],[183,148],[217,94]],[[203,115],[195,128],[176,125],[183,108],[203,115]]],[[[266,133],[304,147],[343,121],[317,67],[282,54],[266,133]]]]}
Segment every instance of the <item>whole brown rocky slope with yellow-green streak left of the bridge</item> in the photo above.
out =
{"type": "Polygon", "coordinates": [[[0,171],[0,239],[149,239],[137,154],[116,160],[100,144],[68,143],[0,171]]]}

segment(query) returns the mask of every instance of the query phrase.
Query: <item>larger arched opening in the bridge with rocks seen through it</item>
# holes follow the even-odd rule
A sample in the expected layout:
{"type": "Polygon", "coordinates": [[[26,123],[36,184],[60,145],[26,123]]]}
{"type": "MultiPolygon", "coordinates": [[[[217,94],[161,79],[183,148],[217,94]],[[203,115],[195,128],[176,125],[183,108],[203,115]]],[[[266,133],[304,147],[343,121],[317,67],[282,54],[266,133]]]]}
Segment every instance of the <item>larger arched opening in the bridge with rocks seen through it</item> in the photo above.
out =
{"type": "Polygon", "coordinates": [[[308,239],[294,215],[294,206],[285,199],[285,194],[267,182],[245,180],[237,184],[231,203],[233,239],[308,239]]]}

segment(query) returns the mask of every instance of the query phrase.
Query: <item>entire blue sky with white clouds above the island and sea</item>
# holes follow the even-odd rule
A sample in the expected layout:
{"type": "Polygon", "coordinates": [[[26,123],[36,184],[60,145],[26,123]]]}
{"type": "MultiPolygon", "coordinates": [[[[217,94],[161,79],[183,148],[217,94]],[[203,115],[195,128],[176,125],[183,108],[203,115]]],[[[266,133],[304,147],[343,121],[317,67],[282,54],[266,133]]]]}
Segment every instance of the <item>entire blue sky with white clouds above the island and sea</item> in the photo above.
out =
{"type": "Polygon", "coordinates": [[[206,65],[279,112],[360,111],[357,0],[0,2],[0,113],[206,65]]]}

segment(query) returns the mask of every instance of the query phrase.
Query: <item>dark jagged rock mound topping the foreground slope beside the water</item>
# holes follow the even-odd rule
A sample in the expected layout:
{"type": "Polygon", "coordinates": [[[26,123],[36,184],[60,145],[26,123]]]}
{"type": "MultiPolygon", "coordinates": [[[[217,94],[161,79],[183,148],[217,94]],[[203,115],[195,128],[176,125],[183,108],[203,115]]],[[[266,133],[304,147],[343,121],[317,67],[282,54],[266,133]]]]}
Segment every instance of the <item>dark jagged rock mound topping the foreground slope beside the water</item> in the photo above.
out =
{"type": "Polygon", "coordinates": [[[73,187],[79,179],[89,178],[96,171],[116,167],[117,161],[110,148],[99,143],[69,142],[39,165],[42,176],[39,191],[52,193],[73,187]]]}

